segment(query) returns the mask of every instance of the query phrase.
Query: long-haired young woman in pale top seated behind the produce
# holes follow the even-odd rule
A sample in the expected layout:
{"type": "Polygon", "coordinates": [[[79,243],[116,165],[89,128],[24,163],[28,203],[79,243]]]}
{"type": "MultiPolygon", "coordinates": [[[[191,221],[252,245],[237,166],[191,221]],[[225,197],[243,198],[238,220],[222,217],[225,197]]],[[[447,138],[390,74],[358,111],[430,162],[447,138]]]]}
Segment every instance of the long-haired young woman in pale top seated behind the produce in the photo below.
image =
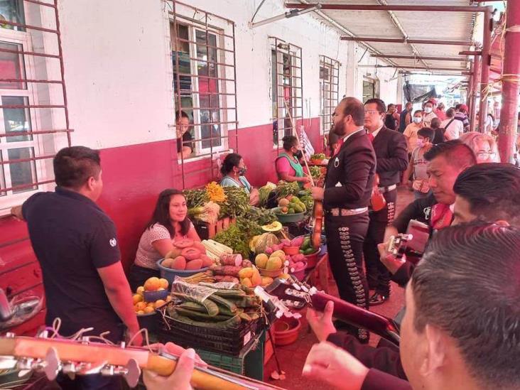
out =
{"type": "Polygon", "coordinates": [[[183,193],[170,188],[159,194],[151,220],[139,240],[136,259],[129,273],[132,291],[143,286],[146,279],[160,277],[157,261],[173,249],[173,242],[180,239],[200,241],[188,218],[188,206],[183,193]]]}

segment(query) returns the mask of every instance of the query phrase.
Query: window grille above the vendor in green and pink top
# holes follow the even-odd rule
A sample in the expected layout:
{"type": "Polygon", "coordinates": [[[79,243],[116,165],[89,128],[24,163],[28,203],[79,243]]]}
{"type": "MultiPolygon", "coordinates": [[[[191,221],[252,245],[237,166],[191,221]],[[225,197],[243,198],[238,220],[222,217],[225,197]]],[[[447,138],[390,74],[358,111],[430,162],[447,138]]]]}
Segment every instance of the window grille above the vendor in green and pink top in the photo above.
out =
{"type": "Polygon", "coordinates": [[[271,40],[271,98],[273,104],[273,144],[280,151],[283,136],[293,134],[294,124],[303,119],[301,48],[276,37],[271,40]]]}

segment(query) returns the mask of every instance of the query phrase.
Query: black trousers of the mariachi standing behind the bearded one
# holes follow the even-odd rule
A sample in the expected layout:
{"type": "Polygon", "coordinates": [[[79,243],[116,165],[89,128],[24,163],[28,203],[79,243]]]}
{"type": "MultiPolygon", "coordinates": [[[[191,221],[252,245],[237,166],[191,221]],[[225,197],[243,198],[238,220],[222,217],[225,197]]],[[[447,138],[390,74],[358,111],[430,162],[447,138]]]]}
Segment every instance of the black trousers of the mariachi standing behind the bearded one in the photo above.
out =
{"type": "Polygon", "coordinates": [[[370,211],[367,238],[364,240],[363,254],[367,266],[369,288],[384,296],[390,294],[390,271],[379,260],[377,244],[384,240],[384,230],[394,221],[397,190],[384,193],[386,206],[379,211],[370,211]]]}

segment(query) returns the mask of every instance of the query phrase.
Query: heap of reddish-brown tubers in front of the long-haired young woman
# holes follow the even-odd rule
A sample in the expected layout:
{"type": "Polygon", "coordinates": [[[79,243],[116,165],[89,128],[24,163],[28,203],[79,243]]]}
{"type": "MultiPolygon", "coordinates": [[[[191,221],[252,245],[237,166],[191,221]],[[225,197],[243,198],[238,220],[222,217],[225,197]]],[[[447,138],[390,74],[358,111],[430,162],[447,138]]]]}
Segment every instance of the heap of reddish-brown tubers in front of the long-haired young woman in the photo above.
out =
{"type": "Polygon", "coordinates": [[[161,266],[178,271],[193,271],[212,264],[213,260],[206,254],[206,247],[190,239],[173,242],[173,250],[161,262],[161,266]]]}

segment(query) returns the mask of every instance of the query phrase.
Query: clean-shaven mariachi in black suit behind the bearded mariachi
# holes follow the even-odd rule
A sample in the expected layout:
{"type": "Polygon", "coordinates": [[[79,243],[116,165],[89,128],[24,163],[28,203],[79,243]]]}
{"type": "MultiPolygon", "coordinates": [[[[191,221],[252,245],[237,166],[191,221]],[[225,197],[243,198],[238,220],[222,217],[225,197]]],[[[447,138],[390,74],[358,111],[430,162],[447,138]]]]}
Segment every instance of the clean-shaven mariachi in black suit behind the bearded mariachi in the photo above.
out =
{"type": "Polygon", "coordinates": [[[379,261],[377,244],[384,241],[384,229],[394,221],[399,174],[408,166],[406,139],[399,131],[384,126],[385,115],[386,105],[381,99],[369,99],[365,102],[364,126],[376,152],[379,192],[386,200],[383,209],[370,210],[370,223],[363,245],[369,288],[375,290],[370,297],[370,305],[379,305],[390,296],[390,273],[379,261]]]}

